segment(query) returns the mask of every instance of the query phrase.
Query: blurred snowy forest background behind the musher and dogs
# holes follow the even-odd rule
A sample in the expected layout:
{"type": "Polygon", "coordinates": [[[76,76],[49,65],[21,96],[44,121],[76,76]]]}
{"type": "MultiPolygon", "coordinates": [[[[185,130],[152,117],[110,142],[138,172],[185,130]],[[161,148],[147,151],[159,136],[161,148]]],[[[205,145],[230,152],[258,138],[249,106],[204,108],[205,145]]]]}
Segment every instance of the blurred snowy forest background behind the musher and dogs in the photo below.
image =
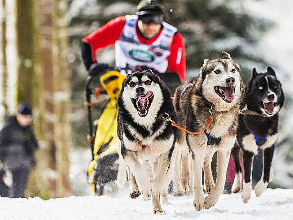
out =
{"type": "MultiPolygon", "coordinates": [[[[40,150],[28,196],[63,197],[88,193],[86,169],[91,160],[86,141],[81,39],[110,19],[134,14],[138,0],[1,0],[0,128],[26,101],[33,106],[40,150]]],[[[280,112],[280,134],[273,159],[272,187],[293,187],[291,1],[163,1],[168,23],[185,41],[187,76],[205,58],[227,51],[241,66],[245,82],[253,67],[270,65],[286,95],[280,112]],[[283,16],[284,15],[284,16],[283,16]],[[286,15],[286,16],[285,16],[286,15]]],[[[99,62],[114,64],[114,48],[98,52],[99,62]]],[[[98,118],[103,105],[97,106],[98,118]]]]}

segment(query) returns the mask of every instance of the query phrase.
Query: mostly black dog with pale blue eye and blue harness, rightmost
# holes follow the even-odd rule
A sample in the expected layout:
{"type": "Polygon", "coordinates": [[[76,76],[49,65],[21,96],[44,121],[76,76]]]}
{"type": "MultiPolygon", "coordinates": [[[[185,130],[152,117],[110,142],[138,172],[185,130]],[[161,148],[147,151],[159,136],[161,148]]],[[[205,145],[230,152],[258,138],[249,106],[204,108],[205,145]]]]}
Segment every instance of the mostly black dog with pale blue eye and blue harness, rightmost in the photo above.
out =
{"type": "Polygon", "coordinates": [[[274,70],[268,67],[267,72],[258,73],[254,68],[252,78],[246,87],[244,108],[239,115],[237,144],[232,150],[236,173],[232,186],[234,193],[241,190],[239,150],[243,150],[244,182],[241,197],[245,203],[251,195],[252,161],[253,156],[258,153],[258,148],[263,150],[263,174],[255,186],[256,196],[263,193],[272,176],[272,157],[278,136],[278,112],[283,103],[284,93],[274,70]]]}

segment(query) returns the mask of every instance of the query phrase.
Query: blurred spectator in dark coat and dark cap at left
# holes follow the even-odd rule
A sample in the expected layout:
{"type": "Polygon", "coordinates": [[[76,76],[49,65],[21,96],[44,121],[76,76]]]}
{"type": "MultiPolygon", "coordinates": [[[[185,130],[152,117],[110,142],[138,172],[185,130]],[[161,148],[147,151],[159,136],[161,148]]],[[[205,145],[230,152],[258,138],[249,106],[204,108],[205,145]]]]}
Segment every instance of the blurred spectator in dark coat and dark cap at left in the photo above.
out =
{"type": "Polygon", "coordinates": [[[1,197],[24,197],[30,168],[35,166],[34,151],[38,148],[38,142],[30,127],[31,123],[31,108],[28,104],[22,103],[18,113],[7,119],[0,132],[0,160],[13,176],[11,187],[0,180],[1,197]]]}

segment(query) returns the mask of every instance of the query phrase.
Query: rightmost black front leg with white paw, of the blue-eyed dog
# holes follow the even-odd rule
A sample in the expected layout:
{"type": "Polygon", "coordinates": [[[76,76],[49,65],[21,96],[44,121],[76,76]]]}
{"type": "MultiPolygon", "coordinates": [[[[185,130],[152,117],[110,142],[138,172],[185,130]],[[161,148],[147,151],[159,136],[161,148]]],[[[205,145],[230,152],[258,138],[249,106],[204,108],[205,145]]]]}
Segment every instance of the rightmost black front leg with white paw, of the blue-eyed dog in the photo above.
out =
{"type": "Polygon", "coordinates": [[[255,195],[260,196],[263,191],[268,187],[270,181],[270,170],[272,165],[273,153],[275,145],[272,145],[270,148],[266,148],[263,154],[263,175],[255,185],[255,195]]]}

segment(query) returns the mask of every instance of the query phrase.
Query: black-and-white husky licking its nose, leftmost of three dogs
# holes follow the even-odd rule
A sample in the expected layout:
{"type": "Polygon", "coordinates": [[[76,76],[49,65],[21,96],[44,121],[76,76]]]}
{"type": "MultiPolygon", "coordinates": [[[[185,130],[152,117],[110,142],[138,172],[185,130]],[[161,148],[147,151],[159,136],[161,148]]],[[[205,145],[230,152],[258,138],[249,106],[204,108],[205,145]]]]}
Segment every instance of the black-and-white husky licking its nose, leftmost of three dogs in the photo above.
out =
{"type": "MultiPolygon", "coordinates": [[[[137,71],[126,77],[117,103],[121,155],[132,180],[136,180],[131,181],[131,187],[137,183],[145,197],[152,197],[154,213],[163,212],[160,191],[171,181],[170,163],[177,137],[176,128],[162,118],[168,114],[176,120],[171,94],[151,70],[137,71]],[[153,180],[144,168],[145,161],[151,163],[153,180]]],[[[134,192],[133,197],[139,194],[134,192]]]]}

